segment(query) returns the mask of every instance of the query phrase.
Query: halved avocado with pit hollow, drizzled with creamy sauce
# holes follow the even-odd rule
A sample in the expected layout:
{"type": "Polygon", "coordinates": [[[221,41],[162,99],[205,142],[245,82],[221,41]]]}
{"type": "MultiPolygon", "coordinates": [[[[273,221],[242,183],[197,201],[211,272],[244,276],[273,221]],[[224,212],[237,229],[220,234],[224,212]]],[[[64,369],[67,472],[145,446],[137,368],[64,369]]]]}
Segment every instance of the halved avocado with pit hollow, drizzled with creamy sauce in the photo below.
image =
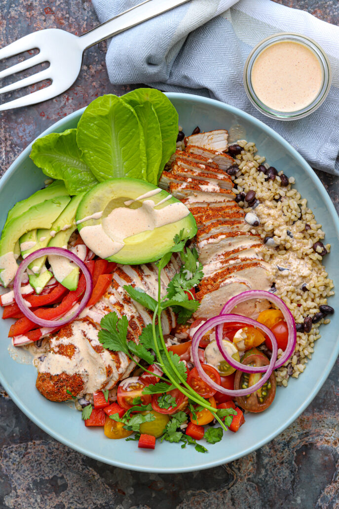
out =
{"type": "Polygon", "coordinates": [[[130,178],[105,180],[88,191],[76,222],[89,249],[106,260],[130,265],[161,258],[182,229],[183,237],[197,233],[193,215],[179,200],[130,178]]]}

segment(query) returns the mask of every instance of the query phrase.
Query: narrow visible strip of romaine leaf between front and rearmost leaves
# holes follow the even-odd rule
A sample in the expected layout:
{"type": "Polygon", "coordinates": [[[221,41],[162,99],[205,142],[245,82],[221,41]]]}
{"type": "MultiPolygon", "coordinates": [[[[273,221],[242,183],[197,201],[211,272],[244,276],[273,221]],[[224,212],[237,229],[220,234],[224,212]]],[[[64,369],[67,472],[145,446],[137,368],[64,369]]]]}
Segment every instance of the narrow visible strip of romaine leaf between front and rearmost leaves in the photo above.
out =
{"type": "Polygon", "coordinates": [[[150,102],[134,106],[144,132],[147,157],[146,180],[158,184],[158,172],[162,159],[161,130],[155,109],[150,102]]]}

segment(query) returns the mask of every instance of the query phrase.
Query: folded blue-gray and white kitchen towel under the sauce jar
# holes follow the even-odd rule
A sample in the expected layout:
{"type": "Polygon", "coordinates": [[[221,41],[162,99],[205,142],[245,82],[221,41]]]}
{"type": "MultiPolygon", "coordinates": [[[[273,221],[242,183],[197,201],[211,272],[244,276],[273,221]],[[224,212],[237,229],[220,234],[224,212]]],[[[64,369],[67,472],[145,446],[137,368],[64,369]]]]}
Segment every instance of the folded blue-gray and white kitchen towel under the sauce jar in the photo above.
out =
{"type": "MultiPolygon", "coordinates": [[[[101,22],[140,0],[93,0],[101,22]]],[[[315,168],[339,175],[339,27],[271,0],[191,0],[115,36],[106,64],[115,84],[219,99],[278,131],[315,168]],[[242,84],[244,62],[262,39],[297,32],[315,39],[332,67],[332,87],[313,114],[282,122],[262,115],[242,84]]]]}

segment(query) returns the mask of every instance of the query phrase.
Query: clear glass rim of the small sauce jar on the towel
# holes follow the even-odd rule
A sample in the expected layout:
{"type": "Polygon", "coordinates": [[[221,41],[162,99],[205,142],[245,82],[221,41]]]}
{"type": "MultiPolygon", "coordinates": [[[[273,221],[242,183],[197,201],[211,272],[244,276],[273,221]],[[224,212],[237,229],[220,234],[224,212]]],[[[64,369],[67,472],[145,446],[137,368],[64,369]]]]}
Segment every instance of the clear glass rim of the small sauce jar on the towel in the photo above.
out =
{"type": "Polygon", "coordinates": [[[297,34],[294,32],[280,32],[278,34],[266,37],[265,39],[260,41],[250,52],[248,58],[246,59],[245,66],[243,69],[244,89],[251,103],[265,116],[278,120],[296,120],[306,117],[307,115],[310,115],[324,102],[330,90],[331,79],[332,79],[331,67],[327,55],[322,49],[322,47],[310,37],[304,36],[303,34],[297,34]],[[303,44],[308,49],[310,49],[317,56],[318,61],[322,68],[323,75],[322,86],[315,99],[307,106],[295,111],[279,111],[270,108],[258,98],[258,96],[253,90],[251,82],[252,68],[258,56],[272,44],[286,41],[297,42],[303,44]]]}

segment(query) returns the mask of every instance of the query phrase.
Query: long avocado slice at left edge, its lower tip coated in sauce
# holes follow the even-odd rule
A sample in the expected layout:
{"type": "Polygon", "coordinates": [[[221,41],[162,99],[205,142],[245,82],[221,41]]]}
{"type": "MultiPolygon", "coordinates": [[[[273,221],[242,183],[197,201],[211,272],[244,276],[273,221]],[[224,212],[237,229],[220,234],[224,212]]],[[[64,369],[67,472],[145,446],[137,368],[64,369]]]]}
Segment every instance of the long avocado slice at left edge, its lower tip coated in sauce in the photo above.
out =
{"type": "Polygon", "coordinates": [[[0,280],[5,288],[14,279],[18,268],[14,256],[16,242],[28,231],[50,228],[70,200],[70,196],[45,200],[7,223],[0,240],[0,280]]]}

